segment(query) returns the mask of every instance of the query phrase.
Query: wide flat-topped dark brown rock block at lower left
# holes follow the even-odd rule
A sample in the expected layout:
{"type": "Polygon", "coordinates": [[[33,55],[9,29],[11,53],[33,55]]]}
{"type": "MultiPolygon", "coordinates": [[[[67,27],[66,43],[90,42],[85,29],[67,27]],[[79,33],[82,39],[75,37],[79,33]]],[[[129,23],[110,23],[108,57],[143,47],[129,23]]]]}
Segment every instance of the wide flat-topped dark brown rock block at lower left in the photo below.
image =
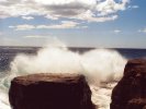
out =
{"type": "Polygon", "coordinates": [[[94,109],[83,75],[33,74],[12,80],[12,109],[94,109]]]}

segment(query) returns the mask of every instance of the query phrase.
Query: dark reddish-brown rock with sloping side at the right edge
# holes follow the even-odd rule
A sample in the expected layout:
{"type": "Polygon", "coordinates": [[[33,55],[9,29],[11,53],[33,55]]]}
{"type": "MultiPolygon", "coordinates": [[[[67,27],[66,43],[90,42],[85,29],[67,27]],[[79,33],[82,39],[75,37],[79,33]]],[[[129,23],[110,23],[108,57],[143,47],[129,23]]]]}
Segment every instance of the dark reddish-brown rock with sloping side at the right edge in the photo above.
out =
{"type": "Polygon", "coordinates": [[[127,62],[112,92],[111,109],[146,109],[146,59],[127,62]]]}

